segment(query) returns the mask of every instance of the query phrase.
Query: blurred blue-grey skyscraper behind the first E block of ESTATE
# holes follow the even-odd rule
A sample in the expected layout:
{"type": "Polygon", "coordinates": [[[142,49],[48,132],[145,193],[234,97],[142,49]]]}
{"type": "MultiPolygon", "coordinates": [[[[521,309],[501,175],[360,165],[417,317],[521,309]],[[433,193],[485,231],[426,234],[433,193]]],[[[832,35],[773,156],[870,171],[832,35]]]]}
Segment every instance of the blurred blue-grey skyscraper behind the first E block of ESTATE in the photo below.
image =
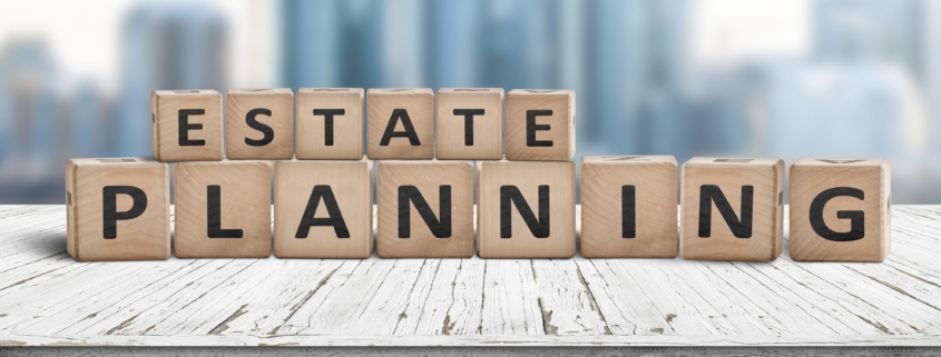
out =
{"type": "Polygon", "coordinates": [[[199,2],[145,2],[122,29],[121,98],[115,152],[150,153],[150,91],[226,90],[226,21],[199,2]]]}

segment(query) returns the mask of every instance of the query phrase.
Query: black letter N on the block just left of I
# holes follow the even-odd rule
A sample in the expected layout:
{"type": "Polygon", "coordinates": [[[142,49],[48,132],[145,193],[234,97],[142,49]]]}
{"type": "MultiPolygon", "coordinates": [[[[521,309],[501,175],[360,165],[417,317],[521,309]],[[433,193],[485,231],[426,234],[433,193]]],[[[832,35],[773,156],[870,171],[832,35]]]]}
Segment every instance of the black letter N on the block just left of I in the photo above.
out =
{"type": "Polygon", "coordinates": [[[500,238],[513,237],[510,202],[517,206],[520,217],[536,238],[549,238],[549,185],[539,185],[539,219],[529,209],[526,198],[516,186],[500,186],[500,238]]]}

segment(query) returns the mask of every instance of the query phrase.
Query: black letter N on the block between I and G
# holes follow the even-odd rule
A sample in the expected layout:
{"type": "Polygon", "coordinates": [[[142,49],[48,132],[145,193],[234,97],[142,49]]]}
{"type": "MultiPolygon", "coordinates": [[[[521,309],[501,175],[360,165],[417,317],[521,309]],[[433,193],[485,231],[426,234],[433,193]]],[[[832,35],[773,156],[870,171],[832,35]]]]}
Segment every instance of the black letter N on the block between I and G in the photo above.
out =
{"type": "Polygon", "coordinates": [[[755,198],[755,187],[742,186],[742,220],[735,217],[735,210],[725,199],[722,189],[715,185],[699,187],[699,238],[709,238],[713,227],[713,200],[716,202],[722,218],[732,229],[736,238],[752,238],[752,204],[755,198]]]}

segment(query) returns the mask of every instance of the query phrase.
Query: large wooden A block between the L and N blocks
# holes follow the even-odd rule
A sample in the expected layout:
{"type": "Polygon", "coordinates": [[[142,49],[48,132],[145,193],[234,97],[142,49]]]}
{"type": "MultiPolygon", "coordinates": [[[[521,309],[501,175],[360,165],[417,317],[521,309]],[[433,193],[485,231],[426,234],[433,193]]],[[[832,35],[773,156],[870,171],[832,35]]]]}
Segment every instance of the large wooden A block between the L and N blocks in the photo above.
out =
{"type": "Polygon", "coordinates": [[[274,197],[275,257],[372,255],[372,161],[277,161],[274,197]]]}

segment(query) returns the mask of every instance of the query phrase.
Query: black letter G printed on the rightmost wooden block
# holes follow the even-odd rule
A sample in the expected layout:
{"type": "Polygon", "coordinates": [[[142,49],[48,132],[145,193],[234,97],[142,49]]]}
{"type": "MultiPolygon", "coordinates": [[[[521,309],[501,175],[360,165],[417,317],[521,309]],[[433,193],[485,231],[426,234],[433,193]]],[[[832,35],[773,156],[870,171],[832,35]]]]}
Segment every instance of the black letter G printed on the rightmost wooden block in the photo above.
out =
{"type": "Polygon", "coordinates": [[[823,220],[823,207],[831,199],[840,196],[849,196],[859,200],[865,198],[863,190],[852,187],[834,187],[821,192],[811,202],[811,228],[826,240],[853,241],[863,239],[865,237],[865,214],[861,210],[836,211],[836,218],[850,219],[850,231],[839,232],[826,227],[826,222],[823,220]]]}

